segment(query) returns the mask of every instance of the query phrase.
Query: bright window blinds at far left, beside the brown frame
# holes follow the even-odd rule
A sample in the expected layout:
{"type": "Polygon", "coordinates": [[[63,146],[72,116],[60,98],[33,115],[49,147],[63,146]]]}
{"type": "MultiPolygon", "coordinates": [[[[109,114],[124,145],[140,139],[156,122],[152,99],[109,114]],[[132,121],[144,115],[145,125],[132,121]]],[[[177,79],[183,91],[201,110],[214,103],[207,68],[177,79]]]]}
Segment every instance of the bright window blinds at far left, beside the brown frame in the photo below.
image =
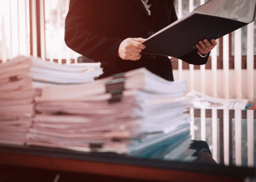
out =
{"type": "Polygon", "coordinates": [[[0,1],[0,60],[29,51],[29,2],[0,1]]]}

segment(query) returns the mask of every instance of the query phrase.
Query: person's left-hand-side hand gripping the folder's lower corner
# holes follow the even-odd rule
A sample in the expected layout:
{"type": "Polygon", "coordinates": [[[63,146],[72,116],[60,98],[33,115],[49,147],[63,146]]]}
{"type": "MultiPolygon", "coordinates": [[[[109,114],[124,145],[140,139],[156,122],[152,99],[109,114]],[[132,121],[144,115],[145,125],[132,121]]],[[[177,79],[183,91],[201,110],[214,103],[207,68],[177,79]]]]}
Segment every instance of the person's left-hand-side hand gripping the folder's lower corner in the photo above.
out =
{"type": "Polygon", "coordinates": [[[127,38],[121,42],[118,49],[118,56],[121,59],[139,60],[141,51],[146,48],[141,44],[146,39],[143,38],[127,38]]]}

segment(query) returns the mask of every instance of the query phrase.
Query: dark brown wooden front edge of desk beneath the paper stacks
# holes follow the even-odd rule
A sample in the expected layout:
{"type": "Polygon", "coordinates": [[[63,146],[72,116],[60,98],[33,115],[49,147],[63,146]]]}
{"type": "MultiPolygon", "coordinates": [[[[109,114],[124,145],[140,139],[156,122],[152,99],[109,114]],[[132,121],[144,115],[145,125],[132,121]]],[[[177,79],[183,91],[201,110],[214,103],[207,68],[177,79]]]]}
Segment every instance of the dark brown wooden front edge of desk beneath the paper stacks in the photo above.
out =
{"type": "Polygon", "coordinates": [[[39,146],[0,145],[1,166],[31,167],[158,181],[243,181],[255,169],[207,163],[132,158],[39,146]]]}

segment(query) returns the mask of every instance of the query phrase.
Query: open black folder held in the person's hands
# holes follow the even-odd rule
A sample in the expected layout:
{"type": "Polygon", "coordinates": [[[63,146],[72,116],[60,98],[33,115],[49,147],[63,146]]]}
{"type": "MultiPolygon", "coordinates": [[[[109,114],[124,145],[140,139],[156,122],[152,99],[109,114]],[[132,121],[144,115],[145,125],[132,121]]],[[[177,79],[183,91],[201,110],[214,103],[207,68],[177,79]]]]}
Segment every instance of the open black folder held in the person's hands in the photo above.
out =
{"type": "Polygon", "coordinates": [[[254,20],[256,0],[211,0],[143,41],[141,54],[179,58],[202,39],[218,39],[254,20]]]}

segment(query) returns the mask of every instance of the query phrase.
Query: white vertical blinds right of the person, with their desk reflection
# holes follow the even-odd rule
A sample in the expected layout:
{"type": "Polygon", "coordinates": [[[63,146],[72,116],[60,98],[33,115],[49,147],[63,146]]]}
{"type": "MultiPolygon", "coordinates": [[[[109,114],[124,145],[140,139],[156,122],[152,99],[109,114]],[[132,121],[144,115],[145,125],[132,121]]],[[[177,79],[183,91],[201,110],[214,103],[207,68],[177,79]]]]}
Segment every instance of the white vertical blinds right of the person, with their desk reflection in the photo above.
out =
{"type": "MultiPolygon", "coordinates": [[[[189,12],[193,11],[194,1],[182,1],[178,0],[177,2],[177,14],[178,18],[182,16],[181,7],[182,4],[189,5],[189,12]]],[[[201,0],[200,4],[204,4],[205,1],[201,0]]],[[[212,68],[211,71],[205,70],[205,65],[200,66],[200,70],[194,70],[193,65],[189,65],[189,71],[182,70],[182,62],[179,60],[178,71],[174,71],[174,79],[187,79],[189,80],[187,90],[198,90],[202,93],[206,93],[213,97],[221,98],[246,98],[250,102],[255,103],[255,70],[253,69],[254,65],[254,23],[247,25],[247,69],[246,71],[242,70],[242,42],[241,42],[241,29],[236,30],[235,32],[235,70],[229,70],[229,35],[223,37],[223,70],[217,70],[217,48],[215,47],[211,52],[212,68]],[[189,72],[189,73],[188,73],[189,72]],[[207,79],[206,79],[207,77],[207,79]],[[201,78],[201,82],[197,80],[201,78]],[[209,79],[211,78],[211,79],[209,79]],[[196,80],[195,80],[196,79],[196,80]],[[246,84],[247,82],[247,84],[246,84]],[[195,84],[196,83],[196,84],[195,84]],[[207,83],[207,84],[206,84],[207,83]],[[248,88],[248,89],[245,89],[248,88]],[[230,97],[232,95],[232,97],[230,97]]],[[[194,109],[190,109],[191,115],[191,137],[195,138],[195,117],[194,109]]],[[[206,140],[206,115],[205,109],[201,109],[201,139],[206,140]]],[[[212,154],[213,158],[216,161],[220,161],[218,158],[218,116],[217,110],[212,110],[212,154]]],[[[223,155],[224,163],[228,165],[229,161],[229,110],[223,110],[223,155]]],[[[254,164],[254,126],[253,126],[253,111],[247,111],[247,164],[248,166],[253,166],[254,164]]],[[[235,164],[241,166],[242,164],[242,110],[235,110],[235,164]]]]}

